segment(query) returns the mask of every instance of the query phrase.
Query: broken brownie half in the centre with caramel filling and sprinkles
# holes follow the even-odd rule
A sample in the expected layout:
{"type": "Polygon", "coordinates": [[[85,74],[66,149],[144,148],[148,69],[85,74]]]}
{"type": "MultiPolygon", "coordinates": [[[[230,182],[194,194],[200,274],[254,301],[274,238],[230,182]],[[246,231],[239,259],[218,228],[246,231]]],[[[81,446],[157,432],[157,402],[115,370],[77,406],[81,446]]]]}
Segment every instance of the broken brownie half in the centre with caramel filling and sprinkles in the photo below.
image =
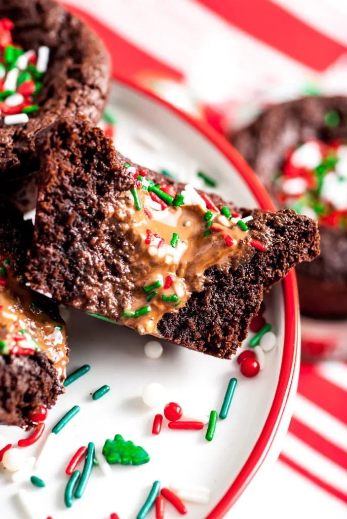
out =
{"type": "Polygon", "coordinates": [[[263,293],[319,252],[310,218],[238,209],[136,166],[83,117],[36,145],[29,285],[139,333],[230,358],[263,293]]]}

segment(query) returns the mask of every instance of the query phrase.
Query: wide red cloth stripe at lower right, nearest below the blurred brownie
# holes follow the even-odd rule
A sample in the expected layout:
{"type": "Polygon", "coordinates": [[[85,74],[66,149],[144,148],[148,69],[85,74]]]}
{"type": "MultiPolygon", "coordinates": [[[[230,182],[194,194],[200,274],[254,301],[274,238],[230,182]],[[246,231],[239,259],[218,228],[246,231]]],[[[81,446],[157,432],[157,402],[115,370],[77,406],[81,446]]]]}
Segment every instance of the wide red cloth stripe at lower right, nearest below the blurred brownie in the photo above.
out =
{"type": "Polygon", "coordinates": [[[347,392],[318,375],[314,367],[300,367],[298,393],[347,425],[347,392]]]}

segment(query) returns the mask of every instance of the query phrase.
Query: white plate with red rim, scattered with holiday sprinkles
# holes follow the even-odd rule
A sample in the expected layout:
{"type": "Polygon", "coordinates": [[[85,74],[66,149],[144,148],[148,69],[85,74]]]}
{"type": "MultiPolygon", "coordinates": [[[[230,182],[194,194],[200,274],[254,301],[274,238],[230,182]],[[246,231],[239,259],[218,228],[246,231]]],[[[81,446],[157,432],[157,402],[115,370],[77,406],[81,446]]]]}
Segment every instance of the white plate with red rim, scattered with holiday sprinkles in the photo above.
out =
{"type": "MultiPolygon", "coordinates": [[[[194,126],[165,103],[120,83],[114,85],[110,102],[118,119],[116,147],[132,160],[169,170],[198,187],[201,184],[196,171],[200,169],[218,180],[217,193],[241,206],[258,206],[254,193],[262,204],[268,201],[238,155],[212,130],[201,133],[198,124],[194,126]],[[143,128],[155,135],[159,150],[141,145],[138,135],[143,128]],[[232,162],[240,162],[242,174],[232,162]]],[[[27,455],[37,455],[52,426],[68,409],[78,404],[81,411],[55,437],[54,445],[46,453],[44,468],[34,471],[46,482],[45,488],[34,488],[30,482],[11,483],[8,474],[0,469],[1,517],[25,517],[16,498],[19,488],[29,491],[35,519],[106,519],[112,512],[117,512],[121,519],[135,517],[155,480],[165,486],[178,482],[210,489],[208,504],[187,503],[191,519],[201,519],[214,509],[209,517],[224,515],[269,454],[270,446],[273,445],[272,458],[279,453],[291,412],[289,393],[295,392],[298,321],[294,275],[271,291],[266,304],[266,318],[274,327],[278,345],[266,353],[266,367],[253,379],[240,374],[235,359],[219,360],[165,342],[162,357],[150,360],[143,348],[148,337],[71,310],[68,372],[86,363],[91,370],[67,388],[49,412],[43,439],[27,447],[27,455]],[[197,414],[209,415],[211,409],[219,412],[232,376],[238,378],[238,385],[230,413],[226,420],[218,420],[212,442],[205,440],[205,430],[171,431],[167,422],[159,436],[151,434],[153,417],[162,412],[162,406],[151,409],[143,404],[145,384],[159,382],[166,389],[166,402],[176,401],[183,408],[196,409],[197,414]],[[110,392],[93,401],[91,393],[104,384],[111,387],[110,392]],[[150,454],[150,462],[141,467],[113,466],[108,478],[95,467],[85,495],[67,509],[64,488],[68,461],[79,446],[93,441],[97,448],[102,448],[104,441],[117,433],[143,446],[150,454]]],[[[6,443],[15,443],[26,433],[3,426],[0,435],[6,443]]],[[[166,516],[174,514],[169,505],[166,516]]],[[[149,517],[154,517],[153,511],[149,517]]]]}

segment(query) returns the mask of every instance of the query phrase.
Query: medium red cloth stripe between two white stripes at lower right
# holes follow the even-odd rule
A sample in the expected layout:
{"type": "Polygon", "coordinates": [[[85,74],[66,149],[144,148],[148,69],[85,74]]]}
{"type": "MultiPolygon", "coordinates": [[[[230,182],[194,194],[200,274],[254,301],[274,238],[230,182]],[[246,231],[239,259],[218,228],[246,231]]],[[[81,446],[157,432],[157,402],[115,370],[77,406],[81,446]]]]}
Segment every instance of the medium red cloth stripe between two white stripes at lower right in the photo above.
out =
{"type": "Polygon", "coordinates": [[[347,452],[323,438],[323,436],[315,432],[313,429],[310,429],[310,427],[302,424],[295,417],[290,421],[289,432],[297,436],[297,438],[304,443],[310,445],[313,449],[317,450],[318,453],[347,470],[347,452]]]}

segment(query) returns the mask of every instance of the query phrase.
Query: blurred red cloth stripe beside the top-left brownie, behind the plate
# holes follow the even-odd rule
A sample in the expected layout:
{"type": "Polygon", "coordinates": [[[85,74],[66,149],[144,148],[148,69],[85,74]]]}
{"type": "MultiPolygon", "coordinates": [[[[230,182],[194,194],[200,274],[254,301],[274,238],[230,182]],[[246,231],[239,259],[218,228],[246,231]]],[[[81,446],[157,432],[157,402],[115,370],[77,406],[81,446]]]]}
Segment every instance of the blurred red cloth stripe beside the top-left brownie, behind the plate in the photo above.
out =
{"type": "Polygon", "coordinates": [[[103,40],[110,54],[112,54],[113,74],[136,77],[140,72],[156,72],[174,80],[183,79],[181,72],[172,69],[169,65],[132,45],[85,11],[71,5],[65,5],[65,7],[73,15],[83,20],[103,40]],[[115,49],[117,50],[115,51],[115,49]]]}

